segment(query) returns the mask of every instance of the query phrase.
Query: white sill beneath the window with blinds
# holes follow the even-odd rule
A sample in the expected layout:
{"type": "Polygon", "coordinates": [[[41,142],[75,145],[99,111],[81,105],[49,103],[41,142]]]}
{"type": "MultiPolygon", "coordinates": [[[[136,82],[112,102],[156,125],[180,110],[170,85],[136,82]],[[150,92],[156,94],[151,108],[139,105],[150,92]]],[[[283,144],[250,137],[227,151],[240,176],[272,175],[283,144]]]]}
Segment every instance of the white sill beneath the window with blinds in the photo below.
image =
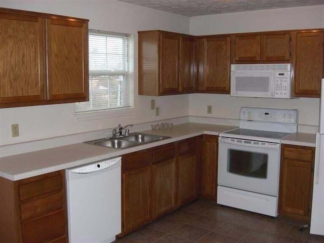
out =
{"type": "Polygon", "coordinates": [[[115,110],[99,110],[99,111],[91,111],[85,113],[74,113],[74,119],[76,121],[96,120],[96,119],[111,118],[116,116],[134,115],[135,113],[136,113],[136,109],[134,107],[115,109],[115,110]]]}

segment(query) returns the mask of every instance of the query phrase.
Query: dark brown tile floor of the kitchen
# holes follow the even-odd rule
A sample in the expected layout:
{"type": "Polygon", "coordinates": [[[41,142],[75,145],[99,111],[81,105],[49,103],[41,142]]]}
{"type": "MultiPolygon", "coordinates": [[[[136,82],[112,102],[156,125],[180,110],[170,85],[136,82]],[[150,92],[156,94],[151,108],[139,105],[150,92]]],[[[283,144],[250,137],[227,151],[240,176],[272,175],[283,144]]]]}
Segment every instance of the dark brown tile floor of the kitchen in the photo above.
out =
{"type": "Polygon", "coordinates": [[[324,243],[323,236],[309,234],[309,229],[299,231],[301,224],[198,199],[116,243],[324,243]]]}

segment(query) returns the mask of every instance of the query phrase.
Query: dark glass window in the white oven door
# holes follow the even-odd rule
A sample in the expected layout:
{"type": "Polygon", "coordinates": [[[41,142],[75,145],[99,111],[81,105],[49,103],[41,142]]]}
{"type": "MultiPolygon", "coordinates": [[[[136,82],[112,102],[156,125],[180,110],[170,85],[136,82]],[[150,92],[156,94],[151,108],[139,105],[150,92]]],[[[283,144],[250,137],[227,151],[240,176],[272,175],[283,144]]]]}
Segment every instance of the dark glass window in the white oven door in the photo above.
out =
{"type": "Polygon", "coordinates": [[[268,154],[229,149],[228,172],[248,177],[267,178],[268,154]]]}

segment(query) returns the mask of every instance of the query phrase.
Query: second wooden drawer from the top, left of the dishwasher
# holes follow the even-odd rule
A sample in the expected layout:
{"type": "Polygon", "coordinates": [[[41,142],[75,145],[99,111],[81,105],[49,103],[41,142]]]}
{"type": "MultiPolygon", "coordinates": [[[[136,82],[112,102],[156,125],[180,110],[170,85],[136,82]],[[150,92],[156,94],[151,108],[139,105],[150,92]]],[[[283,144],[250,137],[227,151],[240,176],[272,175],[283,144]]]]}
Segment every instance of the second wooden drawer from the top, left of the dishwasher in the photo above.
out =
{"type": "Polygon", "coordinates": [[[54,210],[63,207],[62,192],[55,193],[46,197],[41,197],[36,200],[28,201],[28,203],[21,204],[21,219],[25,220],[41,216],[54,210]]]}

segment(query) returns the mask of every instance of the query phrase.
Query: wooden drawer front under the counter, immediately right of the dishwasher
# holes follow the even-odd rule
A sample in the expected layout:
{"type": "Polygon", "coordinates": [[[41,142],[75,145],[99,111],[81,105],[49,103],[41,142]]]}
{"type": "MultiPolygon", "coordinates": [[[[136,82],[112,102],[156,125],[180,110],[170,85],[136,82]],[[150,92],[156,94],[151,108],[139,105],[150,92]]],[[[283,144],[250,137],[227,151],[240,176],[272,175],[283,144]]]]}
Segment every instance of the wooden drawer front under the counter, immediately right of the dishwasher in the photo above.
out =
{"type": "Polygon", "coordinates": [[[121,161],[123,172],[129,171],[150,164],[150,153],[148,150],[129,153],[124,155],[121,161]]]}

